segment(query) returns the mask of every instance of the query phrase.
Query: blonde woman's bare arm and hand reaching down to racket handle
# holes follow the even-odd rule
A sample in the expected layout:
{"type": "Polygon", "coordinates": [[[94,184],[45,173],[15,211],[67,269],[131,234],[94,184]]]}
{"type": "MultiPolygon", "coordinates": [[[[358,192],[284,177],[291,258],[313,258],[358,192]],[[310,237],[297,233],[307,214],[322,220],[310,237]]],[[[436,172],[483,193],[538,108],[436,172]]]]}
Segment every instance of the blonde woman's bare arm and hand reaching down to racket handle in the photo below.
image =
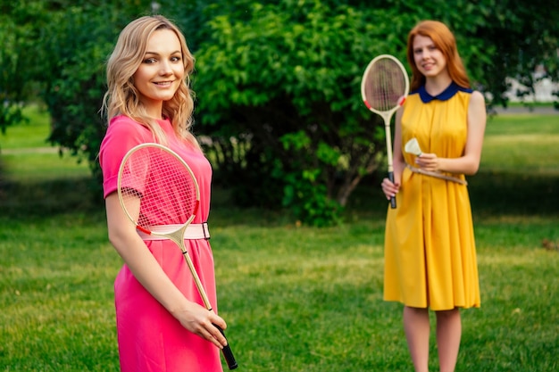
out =
{"type": "Polygon", "coordinates": [[[109,194],[105,206],[109,240],[138,282],[190,332],[202,336],[220,348],[227,345],[225,337],[212,325],[214,323],[225,329],[225,321],[213,311],[188,301],[171,282],[122,211],[118,194],[109,194]]]}

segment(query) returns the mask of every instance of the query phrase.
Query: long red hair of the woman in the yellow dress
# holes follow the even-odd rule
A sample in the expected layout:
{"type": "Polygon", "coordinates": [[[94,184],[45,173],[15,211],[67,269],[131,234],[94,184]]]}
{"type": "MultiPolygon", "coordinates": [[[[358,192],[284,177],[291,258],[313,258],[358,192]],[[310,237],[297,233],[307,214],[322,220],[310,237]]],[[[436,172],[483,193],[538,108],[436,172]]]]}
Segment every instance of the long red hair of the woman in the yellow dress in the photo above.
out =
{"type": "Polygon", "coordinates": [[[446,25],[439,21],[421,21],[409,33],[407,37],[407,62],[412,67],[412,84],[411,90],[417,90],[425,84],[425,76],[421,74],[413,60],[413,38],[417,35],[422,37],[430,37],[433,43],[441,51],[446,59],[446,68],[450,79],[452,79],[460,87],[469,88],[470,79],[463,66],[456,39],[453,33],[446,25]]]}

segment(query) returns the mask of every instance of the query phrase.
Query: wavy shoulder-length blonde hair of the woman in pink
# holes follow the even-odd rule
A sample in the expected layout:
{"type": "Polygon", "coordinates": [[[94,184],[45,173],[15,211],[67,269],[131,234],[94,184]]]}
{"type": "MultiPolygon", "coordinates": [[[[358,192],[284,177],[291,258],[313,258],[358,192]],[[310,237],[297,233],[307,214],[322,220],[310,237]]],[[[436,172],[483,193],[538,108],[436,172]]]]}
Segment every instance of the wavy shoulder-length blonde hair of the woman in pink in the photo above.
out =
{"type": "Polygon", "coordinates": [[[133,75],[144,60],[147,40],[154,31],[170,29],[179,37],[185,78],[171,100],[163,102],[163,117],[171,120],[179,138],[200,148],[191,132],[194,111],[194,93],[190,89],[190,73],[194,70],[194,56],[188,50],[184,35],[171,21],[161,15],[140,17],[131,21],[124,29],[109,56],[106,65],[107,92],[104,94],[101,112],[111,120],[117,115],[129,118],[149,128],[158,142],[165,143],[166,137],[157,121],[147,115],[146,108],[139,100],[138,89],[134,86],[133,75]]]}

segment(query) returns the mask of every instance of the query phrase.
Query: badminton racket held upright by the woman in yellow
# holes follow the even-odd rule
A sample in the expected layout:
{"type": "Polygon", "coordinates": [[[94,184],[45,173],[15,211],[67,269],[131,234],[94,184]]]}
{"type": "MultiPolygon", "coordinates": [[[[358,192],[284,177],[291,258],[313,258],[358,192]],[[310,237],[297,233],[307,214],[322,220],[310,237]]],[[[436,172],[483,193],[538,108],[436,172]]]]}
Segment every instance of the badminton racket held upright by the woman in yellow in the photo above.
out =
{"type": "MultiPolygon", "coordinates": [[[[388,179],[394,182],[392,163],[392,135],[390,120],[396,110],[405,102],[410,82],[405,68],[396,57],[381,54],[367,66],[361,80],[363,102],[371,112],[379,114],[384,120],[387,137],[388,179]]],[[[396,198],[390,198],[390,206],[396,208],[396,198]]]]}

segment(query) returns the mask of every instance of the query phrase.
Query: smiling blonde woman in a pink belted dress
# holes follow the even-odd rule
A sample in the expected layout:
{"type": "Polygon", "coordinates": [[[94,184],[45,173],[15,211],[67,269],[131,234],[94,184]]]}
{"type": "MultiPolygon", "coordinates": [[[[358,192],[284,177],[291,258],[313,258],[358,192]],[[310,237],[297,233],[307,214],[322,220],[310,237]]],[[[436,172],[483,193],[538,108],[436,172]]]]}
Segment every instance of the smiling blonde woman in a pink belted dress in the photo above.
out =
{"type": "Polygon", "coordinates": [[[212,169],[190,131],[193,69],[185,37],[162,16],[130,22],[107,62],[103,109],[109,125],[99,160],[109,240],[124,260],[114,283],[123,372],[222,371],[220,349],[227,341],[213,324],[225,329],[225,321],[205,309],[176,244],[143,240],[121,211],[116,193],[121,160],[135,145],[163,143],[187,161],[200,186],[193,226],[202,236],[188,239],[187,248],[217,311],[213,253],[204,238],[212,169]]]}

